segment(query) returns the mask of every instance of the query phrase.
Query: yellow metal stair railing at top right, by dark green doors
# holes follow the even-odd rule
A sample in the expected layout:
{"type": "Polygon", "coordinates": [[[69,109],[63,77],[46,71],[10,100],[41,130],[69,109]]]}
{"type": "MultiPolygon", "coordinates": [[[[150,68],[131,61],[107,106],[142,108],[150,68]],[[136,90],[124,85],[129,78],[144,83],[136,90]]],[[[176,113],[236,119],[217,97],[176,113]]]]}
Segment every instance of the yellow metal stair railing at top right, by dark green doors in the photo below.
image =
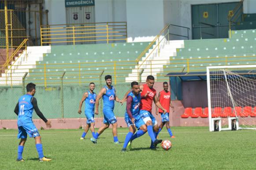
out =
{"type": "Polygon", "coordinates": [[[243,2],[244,0],[240,0],[237,6],[227,16],[229,21],[229,38],[231,38],[231,26],[233,26],[232,23],[237,22],[237,19],[240,17],[243,19],[243,2]]]}

